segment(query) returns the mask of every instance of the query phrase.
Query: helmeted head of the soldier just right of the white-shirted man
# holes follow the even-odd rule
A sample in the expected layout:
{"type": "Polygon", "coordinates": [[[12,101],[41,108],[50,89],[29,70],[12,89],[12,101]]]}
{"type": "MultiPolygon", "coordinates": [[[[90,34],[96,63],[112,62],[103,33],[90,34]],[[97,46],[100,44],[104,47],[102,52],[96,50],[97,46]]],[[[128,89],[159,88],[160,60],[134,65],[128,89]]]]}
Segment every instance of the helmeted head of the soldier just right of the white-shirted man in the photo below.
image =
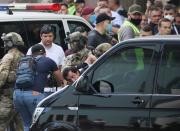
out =
{"type": "Polygon", "coordinates": [[[80,32],[74,32],[69,35],[69,44],[74,53],[85,48],[87,44],[87,38],[80,32]]]}

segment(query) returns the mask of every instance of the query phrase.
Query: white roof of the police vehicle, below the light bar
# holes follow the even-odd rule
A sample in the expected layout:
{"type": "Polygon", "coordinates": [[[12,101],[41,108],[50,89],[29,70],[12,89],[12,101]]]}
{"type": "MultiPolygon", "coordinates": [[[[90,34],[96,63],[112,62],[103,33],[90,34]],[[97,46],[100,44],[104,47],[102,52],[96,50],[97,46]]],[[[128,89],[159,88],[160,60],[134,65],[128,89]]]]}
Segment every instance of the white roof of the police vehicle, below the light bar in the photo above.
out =
{"type": "Polygon", "coordinates": [[[0,11],[0,20],[6,19],[7,21],[13,21],[15,19],[81,19],[83,18],[74,15],[60,15],[47,12],[29,12],[29,11],[12,11],[13,14],[8,14],[6,11],[0,11]]]}

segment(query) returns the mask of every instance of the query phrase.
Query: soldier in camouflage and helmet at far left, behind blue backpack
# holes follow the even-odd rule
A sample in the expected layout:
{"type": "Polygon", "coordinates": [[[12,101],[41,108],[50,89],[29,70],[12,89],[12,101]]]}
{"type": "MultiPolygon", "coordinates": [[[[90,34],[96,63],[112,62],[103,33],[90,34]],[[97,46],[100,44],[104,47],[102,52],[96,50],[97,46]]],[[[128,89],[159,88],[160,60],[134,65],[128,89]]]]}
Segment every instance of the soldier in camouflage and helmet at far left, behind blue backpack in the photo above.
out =
{"type": "Polygon", "coordinates": [[[4,131],[8,122],[16,114],[13,109],[12,90],[17,63],[23,56],[20,50],[23,48],[24,42],[22,37],[15,32],[4,33],[1,39],[4,42],[4,50],[7,52],[0,62],[0,131],[4,131]]]}

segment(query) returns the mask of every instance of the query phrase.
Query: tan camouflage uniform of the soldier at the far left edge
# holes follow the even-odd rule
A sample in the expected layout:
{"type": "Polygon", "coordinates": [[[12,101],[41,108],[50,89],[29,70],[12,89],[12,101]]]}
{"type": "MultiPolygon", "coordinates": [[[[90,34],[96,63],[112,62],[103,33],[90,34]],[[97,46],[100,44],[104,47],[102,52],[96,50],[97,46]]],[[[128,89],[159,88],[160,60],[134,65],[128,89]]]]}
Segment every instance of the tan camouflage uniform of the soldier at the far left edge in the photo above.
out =
{"type": "Polygon", "coordinates": [[[0,131],[6,129],[8,122],[10,122],[15,115],[12,102],[12,90],[16,79],[17,63],[22,56],[23,54],[12,46],[0,62],[0,131]]]}

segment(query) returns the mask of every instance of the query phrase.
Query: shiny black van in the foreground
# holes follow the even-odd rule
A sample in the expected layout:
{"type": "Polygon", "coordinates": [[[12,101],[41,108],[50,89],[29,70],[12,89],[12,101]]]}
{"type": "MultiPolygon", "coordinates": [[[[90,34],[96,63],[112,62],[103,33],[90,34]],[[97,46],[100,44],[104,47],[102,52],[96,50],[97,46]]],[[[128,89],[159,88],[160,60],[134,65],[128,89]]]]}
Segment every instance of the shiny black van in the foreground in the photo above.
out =
{"type": "Polygon", "coordinates": [[[179,131],[180,37],[124,41],[39,103],[31,131],[179,131]]]}

